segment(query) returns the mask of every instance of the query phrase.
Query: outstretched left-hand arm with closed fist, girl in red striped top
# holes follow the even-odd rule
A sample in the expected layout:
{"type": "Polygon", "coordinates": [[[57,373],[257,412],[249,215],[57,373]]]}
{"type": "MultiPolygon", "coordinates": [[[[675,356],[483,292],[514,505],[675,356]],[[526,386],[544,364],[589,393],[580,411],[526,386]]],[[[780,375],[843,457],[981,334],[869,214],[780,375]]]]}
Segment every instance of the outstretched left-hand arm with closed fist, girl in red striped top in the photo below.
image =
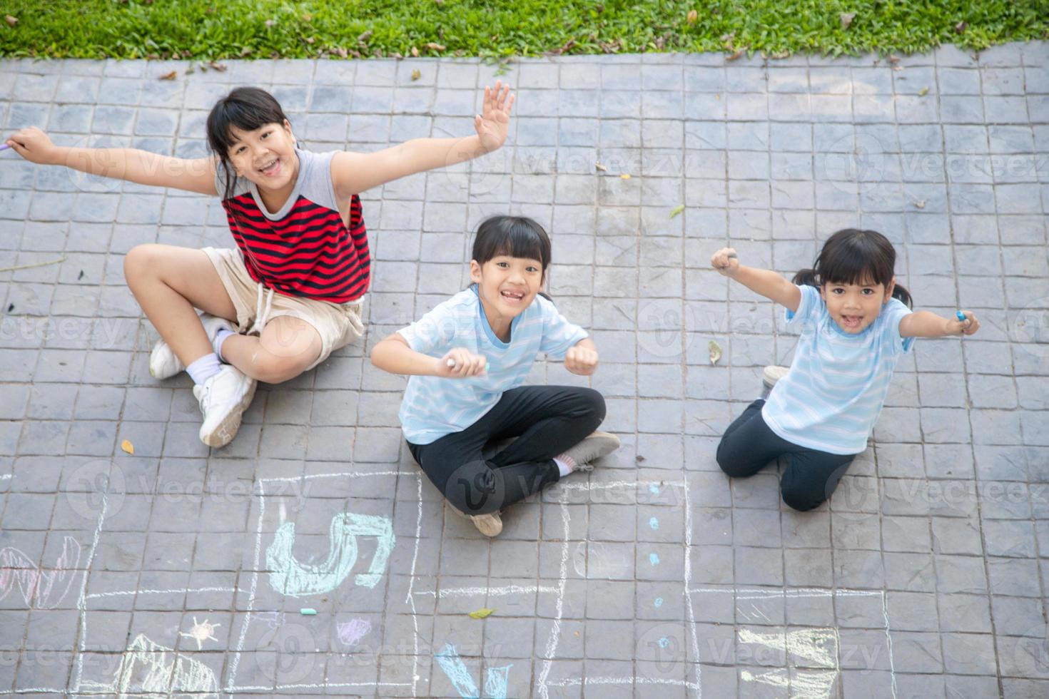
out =
{"type": "Polygon", "coordinates": [[[216,194],[213,157],[187,160],[134,148],[56,146],[46,133],[35,126],[15,132],[5,143],[30,162],[63,165],[92,175],[126,179],[138,184],[216,194]]]}

